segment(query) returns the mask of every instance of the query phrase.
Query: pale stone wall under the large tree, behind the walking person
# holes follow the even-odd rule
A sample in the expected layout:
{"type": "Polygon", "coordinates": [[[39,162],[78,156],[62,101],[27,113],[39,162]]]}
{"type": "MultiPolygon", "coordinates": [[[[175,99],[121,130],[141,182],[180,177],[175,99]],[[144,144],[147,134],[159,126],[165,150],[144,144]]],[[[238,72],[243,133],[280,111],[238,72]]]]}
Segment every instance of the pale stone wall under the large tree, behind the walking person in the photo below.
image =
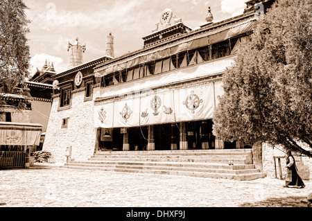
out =
{"type": "MultiPolygon", "coordinates": [[[[262,151],[263,151],[263,172],[267,173],[268,177],[275,177],[275,164],[273,157],[281,157],[281,173],[283,179],[286,177],[286,158],[285,156],[285,150],[284,148],[279,145],[275,148],[268,144],[268,143],[262,143],[262,151]]],[[[296,153],[293,152],[293,155],[295,157],[295,162],[297,165],[297,169],[299,170],[300,176],[304,180],[309,180],[311,178],[311,170],[312,170],[312,159],[309,157],[300,157],[296,156],[296,153]]],[[[276,161],[276,170],[277,170],[277,178],[280,177],[279,175],[279,161],[278,159],[275,159],[276,161]]]]}

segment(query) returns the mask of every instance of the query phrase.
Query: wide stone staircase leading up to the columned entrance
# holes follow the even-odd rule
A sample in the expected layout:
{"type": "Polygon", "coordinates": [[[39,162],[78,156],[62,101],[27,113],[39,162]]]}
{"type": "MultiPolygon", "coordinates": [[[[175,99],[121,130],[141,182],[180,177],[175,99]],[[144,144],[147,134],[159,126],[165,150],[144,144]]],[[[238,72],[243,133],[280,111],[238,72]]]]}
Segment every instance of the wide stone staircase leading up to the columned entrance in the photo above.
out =
{"type": "Polygon", "coordinates": [[[64,167],[236,180],[266,177],[252,164],[250,149],[103,151],[87,161],[70,161],[64,167]]]}

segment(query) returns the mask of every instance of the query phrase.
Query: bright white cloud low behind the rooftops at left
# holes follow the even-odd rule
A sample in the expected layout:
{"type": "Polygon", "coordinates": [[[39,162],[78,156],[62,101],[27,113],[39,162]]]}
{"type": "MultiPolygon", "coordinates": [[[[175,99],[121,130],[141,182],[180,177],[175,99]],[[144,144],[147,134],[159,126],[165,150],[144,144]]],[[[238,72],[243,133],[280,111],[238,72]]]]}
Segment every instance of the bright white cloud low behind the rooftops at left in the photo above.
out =
{"type": "Polygon", "coordinates": [[[46,61],[50,63],[53,62],[53,67],[57,73],[67,69],[67,64],[64,64],[62,58],[47,54],[35,54],[33,58],[31,58],[31,76],[35,74],[37,69],[41,70],[46,61]]]}

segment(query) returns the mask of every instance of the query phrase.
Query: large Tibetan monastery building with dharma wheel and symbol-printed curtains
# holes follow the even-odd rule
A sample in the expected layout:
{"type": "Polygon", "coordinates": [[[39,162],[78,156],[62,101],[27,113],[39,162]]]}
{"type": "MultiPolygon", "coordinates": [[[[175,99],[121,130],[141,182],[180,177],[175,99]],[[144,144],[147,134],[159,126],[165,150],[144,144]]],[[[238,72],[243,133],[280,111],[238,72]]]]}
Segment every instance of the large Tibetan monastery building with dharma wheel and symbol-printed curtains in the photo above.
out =
{"type": "MultiPolygon", "coordinates": [[[[272,1],[263,1],[265,8],[272,1]]],[[[83,63],[86,46],[69,43],[69,69],[53,76],[53,105],[44,150],[56,161],[86,160],[101,150],[202,150],[251,148],[212,134],[223,94],[222,76],[239,44],[249,41],[257,19],[253,1],[241,15],[196,30],[165,9],[138,51],[83,63]]]]}

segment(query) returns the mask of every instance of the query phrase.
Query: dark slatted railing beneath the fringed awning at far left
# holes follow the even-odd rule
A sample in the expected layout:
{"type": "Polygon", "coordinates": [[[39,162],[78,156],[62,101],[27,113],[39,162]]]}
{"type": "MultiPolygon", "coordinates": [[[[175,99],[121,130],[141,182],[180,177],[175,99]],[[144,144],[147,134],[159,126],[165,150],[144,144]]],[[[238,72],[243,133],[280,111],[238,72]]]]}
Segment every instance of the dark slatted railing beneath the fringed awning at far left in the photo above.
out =
{"type": "Polygon", "coordinates": [[[26,152],[24,151],[0,151],[0,169],[24,168],[26,152]]]}

